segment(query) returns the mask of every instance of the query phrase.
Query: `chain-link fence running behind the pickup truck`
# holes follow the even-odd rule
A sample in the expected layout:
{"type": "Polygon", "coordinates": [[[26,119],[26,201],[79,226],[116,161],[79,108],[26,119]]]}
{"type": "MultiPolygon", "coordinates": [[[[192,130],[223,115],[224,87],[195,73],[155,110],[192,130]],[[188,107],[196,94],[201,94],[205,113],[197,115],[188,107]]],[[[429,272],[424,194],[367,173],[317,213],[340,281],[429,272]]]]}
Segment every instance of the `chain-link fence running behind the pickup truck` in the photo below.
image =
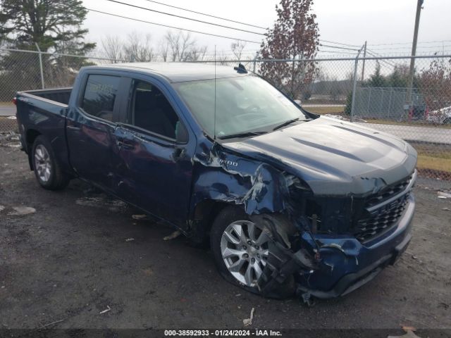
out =
{"type": "MultiPolygon", "coordinates": [[[[301,100],[307,111],[402,137],[418,151],[421,175],[451,180],[451,56],[417,56],[413,72],[411,60],[409,56],[241,61],[221,57],[216,64],[234,67],[241,62],[301,100]]],[[[0,49],[0,132],[16,129],[11,100],[18,90],[70,87],[83,65],[112,62],[0,49]]]]}

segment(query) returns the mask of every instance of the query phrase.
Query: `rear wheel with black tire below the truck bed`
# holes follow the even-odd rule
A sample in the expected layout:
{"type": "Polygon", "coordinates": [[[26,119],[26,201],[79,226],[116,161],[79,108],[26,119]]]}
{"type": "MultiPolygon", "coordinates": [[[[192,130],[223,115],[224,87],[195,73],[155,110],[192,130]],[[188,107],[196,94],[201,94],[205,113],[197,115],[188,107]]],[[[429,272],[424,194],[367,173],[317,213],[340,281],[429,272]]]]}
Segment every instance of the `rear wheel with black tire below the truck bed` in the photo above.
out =
{"type": "MultiPolygon", "coordinates": [[[[60,190],[64,189],[68,185],[70,177],[68,177],[68,175],[63,173],[63,171],[61,170],[61,165],[59,165],[58,161],[56,161],[54,150],[52,149],[50,142],[47,141],[47,139],[44,136],[39,135],[35,139],[30,156],[37,182],[39,183],[39,185],[41,185],[41,187],[49,190],[60,190]],[[48,178],[42,177],[42,175],[39,175],[38,173],[39,172],[38,167],[39,164],[41,163],[39,161],[39,158],[42,157],[39,154],[42,154],[43,150],[47,151],[48,155],[48,168],[49,168],[48,178]]],[[[47,163],[47,157],[45,162],[47,163]]]]}

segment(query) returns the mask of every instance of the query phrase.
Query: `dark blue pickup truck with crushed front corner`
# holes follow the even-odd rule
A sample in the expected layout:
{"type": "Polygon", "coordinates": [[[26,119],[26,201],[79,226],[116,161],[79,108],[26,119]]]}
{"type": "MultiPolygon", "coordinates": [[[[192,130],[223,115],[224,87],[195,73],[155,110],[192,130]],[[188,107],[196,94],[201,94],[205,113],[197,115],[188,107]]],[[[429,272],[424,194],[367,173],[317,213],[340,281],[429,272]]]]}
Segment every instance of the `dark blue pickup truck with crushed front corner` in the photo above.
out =
{"type": "Polygon", "coordinates": [[[242,65],[91,66],[16,104],[42,187],[94,184],[208,243],[250,292],[347,294],[409,244],[412,146],[304,111],[242,65]]]}

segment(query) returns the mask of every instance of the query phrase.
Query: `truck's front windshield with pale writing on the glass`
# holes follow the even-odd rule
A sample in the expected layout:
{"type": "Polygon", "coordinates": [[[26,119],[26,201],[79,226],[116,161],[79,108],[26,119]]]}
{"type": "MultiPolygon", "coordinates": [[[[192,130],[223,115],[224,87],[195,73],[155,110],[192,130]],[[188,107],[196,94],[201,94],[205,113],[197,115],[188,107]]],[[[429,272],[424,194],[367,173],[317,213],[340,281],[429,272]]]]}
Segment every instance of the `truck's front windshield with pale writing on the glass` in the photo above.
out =
{"type": "Polygon", "coordinates": [[[179,82],[174,86],[207,134],[221,138],[246,132],[268,132],[288,120],[306,118],[295,104],[260,77],[228,77],[216,79],[215,128],[214,82],[179,82]]]}

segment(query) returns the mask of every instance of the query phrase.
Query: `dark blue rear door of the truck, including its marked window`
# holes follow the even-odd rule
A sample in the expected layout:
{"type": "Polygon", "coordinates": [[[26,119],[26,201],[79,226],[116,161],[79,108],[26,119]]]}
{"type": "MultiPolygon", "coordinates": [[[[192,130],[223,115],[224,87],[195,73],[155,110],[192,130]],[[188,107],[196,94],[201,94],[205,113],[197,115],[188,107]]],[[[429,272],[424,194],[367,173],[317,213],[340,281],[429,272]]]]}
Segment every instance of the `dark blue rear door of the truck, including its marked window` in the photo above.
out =
{"type": "Polygon", "coordinates": [[[113,188],[113,132],[121,101],[118,96],[130,83],[127,81],[111,73],[87,74],[80,84],[77,104],[68,112],[70,164],[81,178],[109,191],[113,188]]]}

